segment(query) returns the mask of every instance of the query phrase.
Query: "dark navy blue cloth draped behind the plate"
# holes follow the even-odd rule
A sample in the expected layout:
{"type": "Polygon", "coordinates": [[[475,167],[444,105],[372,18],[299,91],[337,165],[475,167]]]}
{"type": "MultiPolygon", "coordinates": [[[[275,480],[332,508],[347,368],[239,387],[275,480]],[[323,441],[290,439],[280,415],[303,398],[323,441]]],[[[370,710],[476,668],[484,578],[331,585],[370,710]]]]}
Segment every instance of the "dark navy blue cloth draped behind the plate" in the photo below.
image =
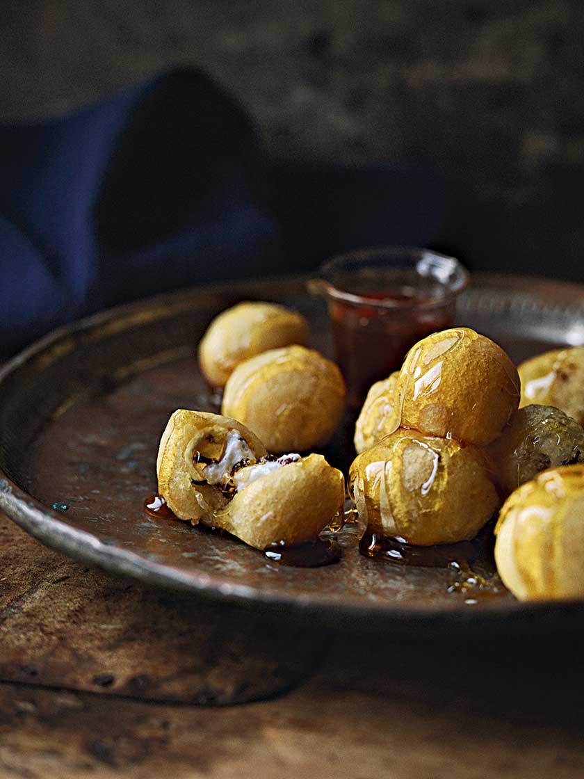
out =
{"type": "Polygon", "coordinates": [[[0,126],[0,357],[107,305],[436,241],[432,174],[269,164],[202,73],[168,72],[55,121],[0,126]]]}

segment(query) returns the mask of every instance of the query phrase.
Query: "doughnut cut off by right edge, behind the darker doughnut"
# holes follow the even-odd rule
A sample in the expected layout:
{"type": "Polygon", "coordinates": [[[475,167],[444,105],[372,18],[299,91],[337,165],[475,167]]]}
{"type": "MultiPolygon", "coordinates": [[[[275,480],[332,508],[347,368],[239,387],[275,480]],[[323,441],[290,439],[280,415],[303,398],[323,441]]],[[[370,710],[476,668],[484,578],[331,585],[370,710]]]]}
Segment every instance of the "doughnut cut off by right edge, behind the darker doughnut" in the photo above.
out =
{"type": "Polygon", "coordinates": [[[584,425],[584,347],[555,349],[519,365],[521,405],[555,406],[584,425]]]}

